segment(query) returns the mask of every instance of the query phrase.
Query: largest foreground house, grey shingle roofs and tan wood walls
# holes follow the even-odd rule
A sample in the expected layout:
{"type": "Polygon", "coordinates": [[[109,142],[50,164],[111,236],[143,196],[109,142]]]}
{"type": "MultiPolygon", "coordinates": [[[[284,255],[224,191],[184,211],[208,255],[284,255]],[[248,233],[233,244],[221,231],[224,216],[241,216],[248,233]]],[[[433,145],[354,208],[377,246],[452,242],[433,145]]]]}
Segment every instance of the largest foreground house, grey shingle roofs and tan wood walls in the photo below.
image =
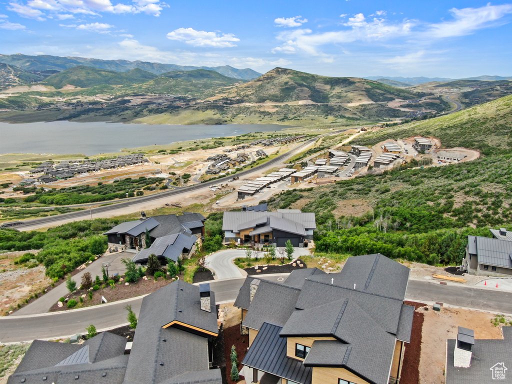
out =
{"type": "Polygon", "coordinates": [[[349,258],[339,273],[247,276],[234,303],[249,334],[247,382],[397,383],[414,314],[403,304],[409,272],[377,253],[349,258]]]}

